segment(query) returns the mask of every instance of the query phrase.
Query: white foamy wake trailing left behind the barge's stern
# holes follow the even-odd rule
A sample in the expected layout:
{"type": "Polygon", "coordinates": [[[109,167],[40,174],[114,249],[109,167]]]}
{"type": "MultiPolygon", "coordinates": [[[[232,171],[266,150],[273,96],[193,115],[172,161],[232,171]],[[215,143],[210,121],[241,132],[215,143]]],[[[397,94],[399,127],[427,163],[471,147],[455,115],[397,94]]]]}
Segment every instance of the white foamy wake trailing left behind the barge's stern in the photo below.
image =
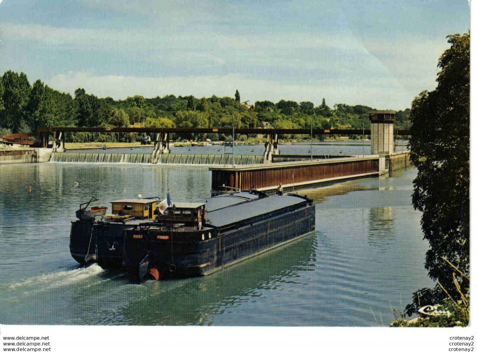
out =
{"type": "Polygon", "coordinates": [[[98,264],[93,264],[86,268],[74,269],[67,272],[53,272],[51,274],[42,274],[32,278],[27,278],[20,282],[12,283],[9,286],[9,290],[34,288],[35,292],[45,291],[55,287],[84,281],[97,276],[101,272],[104,272],[104,269],[98,264]]]}

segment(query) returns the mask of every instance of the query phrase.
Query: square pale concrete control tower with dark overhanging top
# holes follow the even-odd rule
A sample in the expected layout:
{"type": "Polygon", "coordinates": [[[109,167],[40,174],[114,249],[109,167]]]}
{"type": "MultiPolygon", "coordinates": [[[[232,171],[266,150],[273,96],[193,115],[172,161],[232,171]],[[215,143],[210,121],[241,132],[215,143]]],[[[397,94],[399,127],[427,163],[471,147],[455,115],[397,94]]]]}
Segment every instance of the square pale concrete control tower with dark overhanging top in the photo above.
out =
{"type": "Polygon", "coordinates": [[[368,111],[371,121],[371,154],[389,154],[394,152],[394,121],[396,111],[368,111]]]}

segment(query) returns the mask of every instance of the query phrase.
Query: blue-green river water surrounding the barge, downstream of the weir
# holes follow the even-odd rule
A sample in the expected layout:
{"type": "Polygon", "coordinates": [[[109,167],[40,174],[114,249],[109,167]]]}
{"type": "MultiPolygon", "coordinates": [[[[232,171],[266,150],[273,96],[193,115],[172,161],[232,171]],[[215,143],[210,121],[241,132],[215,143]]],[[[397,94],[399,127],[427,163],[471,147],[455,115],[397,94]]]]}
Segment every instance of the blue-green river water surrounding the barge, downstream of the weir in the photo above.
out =
{"type": "Polygon", "coordinates": [[[69,253],[74,211],[92,195],[109,205],[162,198],[167,187],[173,201],[206,197],[207,167],[0,165],[0,323],[386,325],[391,307],[432,285],[411,204],[415,174],[302,191],[317,202],[313,234],[207,277],[137,285],[122,272],[78,267],[69,253]]]}

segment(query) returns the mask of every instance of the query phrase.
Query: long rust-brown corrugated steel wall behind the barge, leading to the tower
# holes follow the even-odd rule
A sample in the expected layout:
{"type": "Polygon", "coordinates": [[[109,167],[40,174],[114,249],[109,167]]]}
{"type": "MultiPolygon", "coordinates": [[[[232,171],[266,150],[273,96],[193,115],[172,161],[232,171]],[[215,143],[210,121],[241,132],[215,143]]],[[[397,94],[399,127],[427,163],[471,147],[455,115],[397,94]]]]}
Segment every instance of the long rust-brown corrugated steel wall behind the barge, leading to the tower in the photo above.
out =
{"type": "Polygon", "coordinates": [[[319,163],[300,163],[293,165],[261,168],[216,169],[212,168],[212,190],[219,191],[221,186],[236,187],[248,190],[293,185],[304,182],[319,182],[321,180],[340,177],[359,176],[379,171],[379,159],[354,161],[330,161],[319,163]]]}

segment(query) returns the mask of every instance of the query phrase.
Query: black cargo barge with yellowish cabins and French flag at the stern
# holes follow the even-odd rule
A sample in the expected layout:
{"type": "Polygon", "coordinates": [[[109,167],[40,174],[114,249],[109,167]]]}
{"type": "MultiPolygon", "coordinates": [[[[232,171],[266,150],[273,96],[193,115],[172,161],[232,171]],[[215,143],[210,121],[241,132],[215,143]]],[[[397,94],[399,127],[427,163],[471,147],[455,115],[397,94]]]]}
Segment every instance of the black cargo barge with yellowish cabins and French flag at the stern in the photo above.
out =
{"type": "MultiPolygon", "coordinates": [[[[80,264],[127,270],[139,281],[208,275],[314,231],[315,204],[296,194],[230,191],[196,202],[112,201],[112,214],[72,221],[80,264]]],[[[80,215],[80,216],[78,216],[80,215]]]]}

